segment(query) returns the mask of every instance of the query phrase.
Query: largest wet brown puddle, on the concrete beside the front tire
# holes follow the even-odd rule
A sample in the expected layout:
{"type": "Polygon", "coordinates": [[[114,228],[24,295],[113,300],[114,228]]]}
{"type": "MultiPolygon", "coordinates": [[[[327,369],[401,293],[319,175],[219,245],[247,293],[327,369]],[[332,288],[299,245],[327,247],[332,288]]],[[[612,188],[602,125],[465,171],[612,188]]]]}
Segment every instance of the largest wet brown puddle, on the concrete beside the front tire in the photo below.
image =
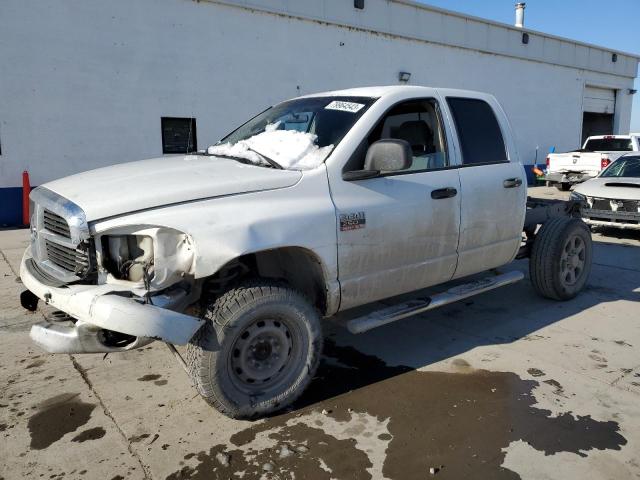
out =
{"type": "MultiPolygon", "coordinates": [[[[267,419],[208,451],[168,479],[519,476],[501,467],[511,442],[545,455],[627,443],[618,423],[536,408],[536,380],[473,370],[420,372],[328,341],[317,378],[290,413],[267,419]],[[320,413],[324,411],[323,413],[320,413]],[[286,446],[286,447],[285,447],[286,446]],[[283,447],[286,455],[283,456],[283,447]]],[[[557,382],[556,382],[557,383],[557,382]]],[[[562,388],[559,384],[556,388],[562,388]]]]}

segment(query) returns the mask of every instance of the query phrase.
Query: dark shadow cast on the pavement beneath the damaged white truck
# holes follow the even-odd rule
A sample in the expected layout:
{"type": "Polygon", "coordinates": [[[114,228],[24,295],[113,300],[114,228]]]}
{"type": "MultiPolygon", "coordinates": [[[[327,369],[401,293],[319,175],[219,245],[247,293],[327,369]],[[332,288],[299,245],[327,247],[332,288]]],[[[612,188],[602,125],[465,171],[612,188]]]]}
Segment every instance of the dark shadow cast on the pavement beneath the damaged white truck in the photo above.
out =
{"type": "MultiPolygon", "coordinates": [[[[525,280],[517,284],[364,334],[350,334],[345,328],[346,321],[384,304],[341,313],[335,321],[325,322],[321,365],[294,408],[326,402],[443,360],[464,365],[466,362],[460,357],[477,347],[535,340],[540,337],[536,335],[539,330],[597,305],[620,300],[640,302],[640,271],[613,268],[616,267],[594,264],[585,290],[567,302],[538,296],[528,279],[528,261],[521,260],[505,268],[525,273],[525,280]],[[618,280],[615,286],[610,284],[612,275],[618,280]]],[[[398,299],[385,304],[397,303],[398,299]]]]}

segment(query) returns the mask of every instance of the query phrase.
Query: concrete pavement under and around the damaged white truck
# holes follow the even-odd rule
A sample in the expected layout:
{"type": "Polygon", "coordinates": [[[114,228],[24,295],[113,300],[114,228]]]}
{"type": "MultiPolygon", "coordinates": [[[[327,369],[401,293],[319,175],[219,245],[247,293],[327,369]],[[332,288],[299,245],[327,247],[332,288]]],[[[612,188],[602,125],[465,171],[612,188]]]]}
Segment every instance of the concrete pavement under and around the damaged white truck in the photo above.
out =
{"type": "Polygon", "coordinates": [[[640,478],[638,233],[594,234],[570,302],[525,280],[360,336],[327,322],[307,394],[258,422],[211,409],[158,343],[37,351],[27,238],[0,232],[0,479],[640,478]]]}

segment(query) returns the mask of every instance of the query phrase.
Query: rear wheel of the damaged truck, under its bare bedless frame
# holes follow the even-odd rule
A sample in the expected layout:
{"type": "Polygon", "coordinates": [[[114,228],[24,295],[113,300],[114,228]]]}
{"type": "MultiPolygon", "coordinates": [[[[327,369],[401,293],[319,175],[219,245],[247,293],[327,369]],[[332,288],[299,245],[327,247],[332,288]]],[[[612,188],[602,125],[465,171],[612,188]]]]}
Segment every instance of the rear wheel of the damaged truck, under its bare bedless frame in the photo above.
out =
{"type": "Polygon", "coordinates": [[[543,297],[570,300],[584,288],[591,272],[592,258],[591,231],[587,224],[577,218],[551,219],[542,225],[533,243],[529,261],[531,283],[543,297]],[[582,250],[569,245],[570,240],[581,245],[582,250]],[[571,255],[572,251],[583,251],[582,258],[580,254],[571,255]],[[574,257],[575,262],[582,266],[579,272],[578,267],[574,268],[575,281],[571,282],[565,273],[571,270],[574,257]]]}

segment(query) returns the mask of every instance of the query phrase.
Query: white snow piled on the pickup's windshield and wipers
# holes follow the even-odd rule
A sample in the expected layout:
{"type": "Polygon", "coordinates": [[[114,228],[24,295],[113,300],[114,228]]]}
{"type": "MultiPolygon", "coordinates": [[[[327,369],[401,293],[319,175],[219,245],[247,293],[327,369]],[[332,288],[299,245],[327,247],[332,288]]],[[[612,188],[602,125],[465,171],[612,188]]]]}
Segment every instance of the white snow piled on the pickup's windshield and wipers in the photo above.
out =
{"type": "Polygon", "coordinates": [[[229,155],[249,160],[259,165],[268,165],[260,152],[288,170],[311,170],[329,156],[333,145],[318,147],[317,136],[296,130],[277,130],[279,123],[267,125],[264,132],[241,140],[238,143],[213,145],[207,149],[209,155],[229,155]]]}

